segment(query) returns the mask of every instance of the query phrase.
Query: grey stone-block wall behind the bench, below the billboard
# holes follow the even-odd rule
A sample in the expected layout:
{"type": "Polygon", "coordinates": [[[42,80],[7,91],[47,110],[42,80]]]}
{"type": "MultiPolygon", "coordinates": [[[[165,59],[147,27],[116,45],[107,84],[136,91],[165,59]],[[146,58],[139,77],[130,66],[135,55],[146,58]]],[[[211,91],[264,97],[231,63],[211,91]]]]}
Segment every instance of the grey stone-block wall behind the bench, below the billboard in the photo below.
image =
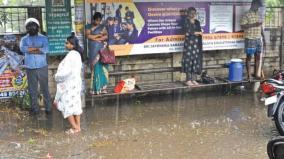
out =
{"type": "MultiPolygon", "coordinates": [[[[271,74],[273,69],[279,69],[280,65],[280,48],[281,48],[281,30],[277,28],[271,28],[266,31],[266,50],[264,52],[264,72],[265,74],[271,74]]],[[[135,69],[151,69],[151,68],[163,68],[163,67],[180,67],[181,66],[181,53],[169,53],[169,54],[156,54],[156,55],[136,55],[136,56],[124,56],[117,58],[117,64],[110,67],[110,71],[118,70],[135,70],[135,69]]],[[[232,58],[240,58],[245,61],[245,54],[243,50],[216,50],[206,51],[203,57],[203,66],[212,66],[216,64],[229,63],[232,58]]],[[[49,85],[51,93],[55,93],[55,82],[53,79],[56,73],[56,67],[60,62],[60,59],[49,59],[49,85]]],[[[253,60],[252,60],[253,62],[253,60]]],[[[213,77],[227,77],[227,68],[208,69],[208,74],[213,77]]],[[[245,72],[246,74],[246,72],[245,72]]],[[[170,72],[165,73],[150,73],[150,74],[134,74],[139,84],[145,83],[160,83],[173,81],[184,81],[185,75],[179,72],[174,74],[170,72]]],[[[110,85],[120,79],[129,78],[131,75],[121,77],[110,77],[110,85]]],[[[89,86],[90,80],[87,79],[87,86],[89,86]]]]}

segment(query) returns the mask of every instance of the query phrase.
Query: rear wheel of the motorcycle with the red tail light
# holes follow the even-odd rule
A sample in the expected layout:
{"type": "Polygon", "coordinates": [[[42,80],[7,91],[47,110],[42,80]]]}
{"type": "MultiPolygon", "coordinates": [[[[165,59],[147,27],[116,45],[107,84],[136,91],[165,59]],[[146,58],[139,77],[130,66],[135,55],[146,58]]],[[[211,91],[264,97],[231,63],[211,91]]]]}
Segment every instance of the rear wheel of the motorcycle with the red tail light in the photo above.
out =
{"type": "Polygon", "coordinates": [[[280,104],[274,116],[274,121],[278,132],[284,135],[284,102],[280,104]]]}

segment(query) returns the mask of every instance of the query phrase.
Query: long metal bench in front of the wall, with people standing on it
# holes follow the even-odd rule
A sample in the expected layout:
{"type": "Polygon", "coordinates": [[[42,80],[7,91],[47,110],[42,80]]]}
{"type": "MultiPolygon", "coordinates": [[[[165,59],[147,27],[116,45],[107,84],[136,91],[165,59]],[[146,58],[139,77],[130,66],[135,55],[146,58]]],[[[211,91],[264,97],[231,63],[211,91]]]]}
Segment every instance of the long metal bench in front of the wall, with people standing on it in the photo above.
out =
{"type": "MultiPolygon", "coordinates": [[[[205,66],[203,69],[218,69],[218,68],[226,68],[226,65],[210,65],[205,66]]],[[[125,75],[137,75],[137,74],[152,74],[152,73],[165,73],[165,72],[179,72],[181,67],[163,67],[163,68],[153,68],[153,69],[135,69],[135,70],[123,70],[123,71],[112,71],[109,72],[109,76],[117,77],[120,80],[120,76],[125,75]]],[[[191,89],[202,89],[204,87],[215,87],[215,86],[222,86],[222,85],[235,85],[235,84],[243,84],[247,83],[247,80],[240,81],[240,82],[231,82],[226,78],[222,77],[215,77],[216,83],[214,84],[204,84],[200,85],[191,89]]],[[[159,92],[166,92],[166,91],[174,91],[174,90],[187,90],[189,87],[181,81],[174,81],[172,76],[172,81],[170,82],[155,82],[150,84],[138,84],[140,89],[135,89],[130,92],[125,93],[113,93],[114,86],[108,87],[107,94],[100,94],[100,95],[87,95],[87,98],[96,99],[102,97],[113,97],[113,96],[121,96],[121,95],[133,95],[133,94],[148,94],[148,93],[159,93],[159,92]]]]}

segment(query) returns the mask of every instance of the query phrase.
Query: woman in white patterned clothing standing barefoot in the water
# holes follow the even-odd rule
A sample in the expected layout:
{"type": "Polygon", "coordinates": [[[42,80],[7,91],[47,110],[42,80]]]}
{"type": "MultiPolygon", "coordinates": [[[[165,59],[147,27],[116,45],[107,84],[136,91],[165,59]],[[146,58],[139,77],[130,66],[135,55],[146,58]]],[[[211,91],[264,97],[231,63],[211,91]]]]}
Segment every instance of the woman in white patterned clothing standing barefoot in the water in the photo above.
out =
{"type": "Polygon", "coordinates": [[[68,134],[81,131],[80,115],[83,112],[81,106],[82,60],[80,55],[82,49],[75,38],[75,36],[67,38],[65,47],[69,50],[69,53],[60,62],[55,74],[57,91],[54,105],[72,126],[71,129],[66,131],[68,134]]]}

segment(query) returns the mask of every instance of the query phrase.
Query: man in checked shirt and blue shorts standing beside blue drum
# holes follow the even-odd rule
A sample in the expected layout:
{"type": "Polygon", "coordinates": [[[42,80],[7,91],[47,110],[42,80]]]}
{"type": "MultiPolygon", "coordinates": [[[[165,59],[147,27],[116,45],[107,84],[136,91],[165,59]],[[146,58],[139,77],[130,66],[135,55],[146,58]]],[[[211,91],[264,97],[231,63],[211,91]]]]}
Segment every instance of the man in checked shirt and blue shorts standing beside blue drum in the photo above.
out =
{"type": "Polygon", "coordinates": [[[246,68],[248,80],[251,81],[250,61],[252,55],[254,55],[254,75],[256,78],[260,78],[258,75],[258,69],[260,66],[260,57],[263,46],[265,46],[264,34],[262,29],[262,21],[260,19],[259,8],[262,6],[260,0],[253,0],[250,10],[245,13],[241,19],[241,27],[244,30],[245,37],[245,53],[246,68]],[[264,45],[263,45],[264,44],[264,45]]]}

